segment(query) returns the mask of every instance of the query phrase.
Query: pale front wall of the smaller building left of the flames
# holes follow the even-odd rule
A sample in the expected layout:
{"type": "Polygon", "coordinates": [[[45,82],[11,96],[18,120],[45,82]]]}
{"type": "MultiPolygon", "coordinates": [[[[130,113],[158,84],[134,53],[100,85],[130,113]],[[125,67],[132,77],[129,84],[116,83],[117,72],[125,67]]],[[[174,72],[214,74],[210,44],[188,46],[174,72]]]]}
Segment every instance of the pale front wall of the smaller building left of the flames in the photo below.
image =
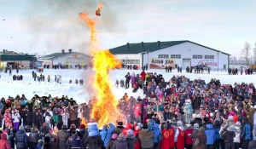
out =
{"type": "Polygon", "coordinates": [[[71,54],[64,54],[61,57],[55,58],[52,60],[53,65],[69,65],[69,66],[76,66],[76,65],[89,65],[91,63],[91,58],[84,54],[78,53],[71,53],[71,54]]]}

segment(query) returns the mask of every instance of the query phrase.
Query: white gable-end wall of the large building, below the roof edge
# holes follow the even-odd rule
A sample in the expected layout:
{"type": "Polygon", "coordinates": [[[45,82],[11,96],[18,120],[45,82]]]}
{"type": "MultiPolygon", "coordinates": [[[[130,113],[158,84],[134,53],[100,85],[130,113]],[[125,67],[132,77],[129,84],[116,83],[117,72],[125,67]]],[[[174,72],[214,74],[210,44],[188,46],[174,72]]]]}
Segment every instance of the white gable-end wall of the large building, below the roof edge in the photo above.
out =
{"type": "Polygon", "coordinates": [[[212,49],[207,49],[189,42],[177,44],[175,46],[160,49],[148,54],[143,54],[143,65],[150,64],[152,59],[159,59],[160,54],[168,54],[168,58],[162,60],[173,60],[176,66],[195,66],[195,64],[198,64],[199,61],[207,62],[207,65],[215,65],[212,66],[212,69],[222,70],[224,67],[225,69],[228,69],[229,66],[229,55],[218,53],[212,49]],[[180,58],[172,58],[171,54],[180,55],[180,58]],[[202,55],[202,59],[195,59],[195,57],[193,58],[193,55],[202,55]],[[205,59],[205,55],[213,55],[214,59],[205,59]]]}

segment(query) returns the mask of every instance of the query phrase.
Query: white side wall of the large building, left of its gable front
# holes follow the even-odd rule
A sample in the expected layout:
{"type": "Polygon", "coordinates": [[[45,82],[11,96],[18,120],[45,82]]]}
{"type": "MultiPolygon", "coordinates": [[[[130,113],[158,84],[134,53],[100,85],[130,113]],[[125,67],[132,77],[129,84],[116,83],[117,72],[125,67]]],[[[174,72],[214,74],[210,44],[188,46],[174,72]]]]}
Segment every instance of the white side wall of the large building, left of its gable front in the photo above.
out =
{"type": "Polygon", "coordinates": [[[116,54],[117,59],[125,65],[142,66],[142,54],[116,54]]]}

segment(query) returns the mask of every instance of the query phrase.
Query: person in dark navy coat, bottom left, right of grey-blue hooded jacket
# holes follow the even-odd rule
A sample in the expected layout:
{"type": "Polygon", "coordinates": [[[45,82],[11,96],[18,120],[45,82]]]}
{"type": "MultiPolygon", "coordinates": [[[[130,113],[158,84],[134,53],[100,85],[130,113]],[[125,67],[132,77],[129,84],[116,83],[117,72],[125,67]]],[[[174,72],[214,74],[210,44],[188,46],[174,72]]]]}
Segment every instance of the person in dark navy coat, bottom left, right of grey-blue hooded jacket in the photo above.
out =
{"type": "Polygon", "coordinates": [[[38,140],[39,140],[38,128],[33,127],[31,129],[31,133],[28,136],[29,149],[36,149],[36,147],[38,145],[38,140]]]}

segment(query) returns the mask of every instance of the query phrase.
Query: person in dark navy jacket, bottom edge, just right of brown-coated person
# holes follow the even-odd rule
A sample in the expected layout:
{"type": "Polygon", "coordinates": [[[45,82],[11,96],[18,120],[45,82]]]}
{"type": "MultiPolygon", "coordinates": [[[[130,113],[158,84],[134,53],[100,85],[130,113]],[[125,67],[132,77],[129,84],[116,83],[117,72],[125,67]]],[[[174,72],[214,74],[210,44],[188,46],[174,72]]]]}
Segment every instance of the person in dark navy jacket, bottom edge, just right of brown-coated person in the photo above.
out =
{"type": "Polygon", "coordinates": [[[76,130],[72,131],[72,135],[67,140],[67,148],[82,148],[83,149],[83,141],[79,137],[76,130]]]}

